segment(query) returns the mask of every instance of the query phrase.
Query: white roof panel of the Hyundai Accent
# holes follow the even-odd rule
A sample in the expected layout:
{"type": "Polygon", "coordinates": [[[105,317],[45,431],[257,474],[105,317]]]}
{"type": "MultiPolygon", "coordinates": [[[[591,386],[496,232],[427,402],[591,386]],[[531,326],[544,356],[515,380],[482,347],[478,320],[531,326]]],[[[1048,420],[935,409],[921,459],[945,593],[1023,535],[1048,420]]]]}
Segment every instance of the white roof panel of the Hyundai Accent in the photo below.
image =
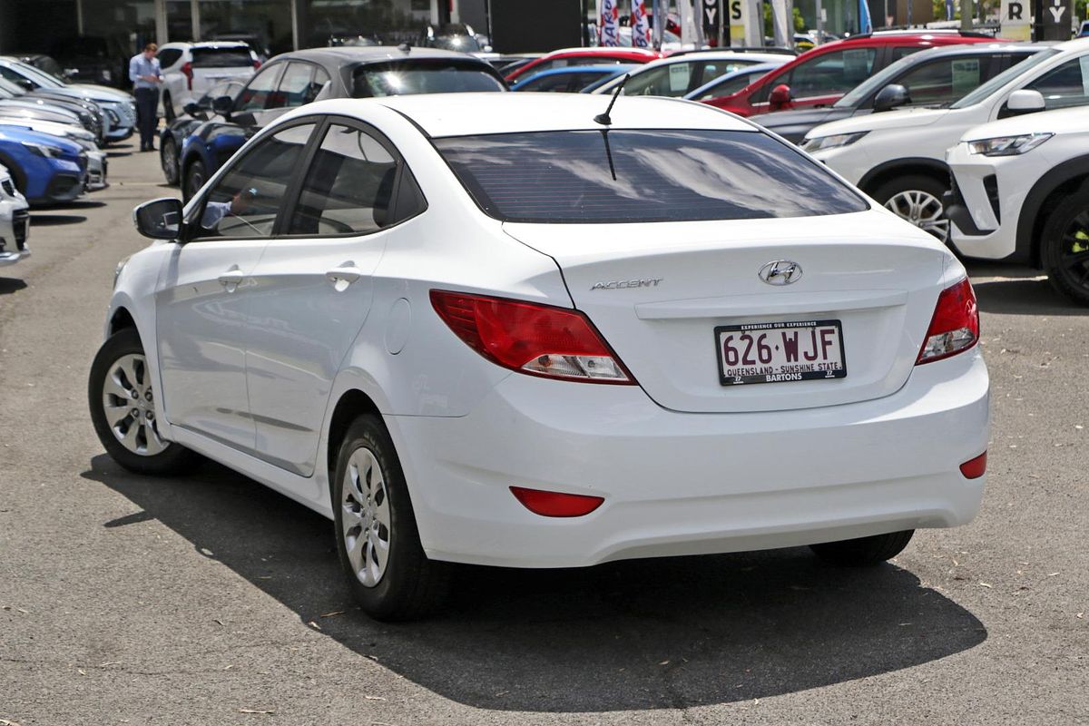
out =
{"type": "MultiPolygon", "coordinates": [[[[368,99],[397,111],[429,136],[470,136],[540,131],[594,130],[605,126],[594,118],[604,112],[609,97],[583,94],[433,94],[368,99]]],[[[325,101],[327,112],[351,113],[358,100],[325,101]]],[[[315,109],[317,110],[317,109],[315,109]]],[[[671,98],[617,99],[609,128],[722,128],[758,131],[758,126],[705,103],[671,98]]]]}

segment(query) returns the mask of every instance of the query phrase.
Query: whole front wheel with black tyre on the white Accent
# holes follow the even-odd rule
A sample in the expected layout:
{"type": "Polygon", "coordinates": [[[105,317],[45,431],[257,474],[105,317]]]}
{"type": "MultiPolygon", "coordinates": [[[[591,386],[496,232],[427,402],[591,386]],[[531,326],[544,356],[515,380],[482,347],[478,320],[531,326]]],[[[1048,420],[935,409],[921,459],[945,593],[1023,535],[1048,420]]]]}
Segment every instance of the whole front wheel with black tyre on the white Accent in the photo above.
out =
{"type": "Polygon", "coordinates": [[[110,458],[130,471],[184,473],[200,457],[181,444],[159,438],[150,377],[135,328],[118,331],[102,344],[90,365],[87,381],[95,433],[110,458]]]}

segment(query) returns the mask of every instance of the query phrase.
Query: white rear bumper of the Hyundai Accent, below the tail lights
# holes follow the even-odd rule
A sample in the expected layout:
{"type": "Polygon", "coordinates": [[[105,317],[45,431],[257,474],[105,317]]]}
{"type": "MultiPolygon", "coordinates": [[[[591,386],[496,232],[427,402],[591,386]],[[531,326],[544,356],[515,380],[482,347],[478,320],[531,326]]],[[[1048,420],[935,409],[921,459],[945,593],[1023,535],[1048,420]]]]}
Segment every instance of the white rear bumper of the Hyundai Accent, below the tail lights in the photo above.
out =
{"type": "Polygon", "coordinates": [[[462,418],[387,417],[437,559],[572,567],[952,527],[978,512],[989,382],[978,350],[916,368],[883,398],[680,414],[638,387],[512,374],[462,418]],[[540,517],[511,485],[604,497],[540,517]]]}

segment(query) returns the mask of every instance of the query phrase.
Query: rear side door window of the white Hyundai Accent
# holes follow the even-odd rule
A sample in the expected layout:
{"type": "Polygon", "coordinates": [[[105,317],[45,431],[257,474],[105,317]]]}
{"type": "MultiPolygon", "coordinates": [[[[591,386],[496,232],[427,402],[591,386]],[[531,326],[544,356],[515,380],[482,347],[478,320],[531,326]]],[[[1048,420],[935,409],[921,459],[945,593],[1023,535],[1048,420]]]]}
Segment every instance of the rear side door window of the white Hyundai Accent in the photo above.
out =
{"type": "Polygon", "coordinates": [[[306,174],[290,234],[364,234],[388,226],[397,162],[372,136],[333,124],[306,174]]]}

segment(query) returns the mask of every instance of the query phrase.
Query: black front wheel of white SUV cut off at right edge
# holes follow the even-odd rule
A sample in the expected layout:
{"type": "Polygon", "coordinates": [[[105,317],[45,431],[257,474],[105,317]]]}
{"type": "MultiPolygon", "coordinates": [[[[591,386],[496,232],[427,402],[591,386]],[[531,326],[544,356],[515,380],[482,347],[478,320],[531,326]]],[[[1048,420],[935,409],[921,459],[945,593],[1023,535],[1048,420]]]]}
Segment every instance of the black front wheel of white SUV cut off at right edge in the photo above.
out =
{"type": "Polygon", "coordinates": [[[1051,210],[1040,237],[1040,260],[1055,291],[1089,305],[1089,192],[1072,194],[1051,210]]]}

